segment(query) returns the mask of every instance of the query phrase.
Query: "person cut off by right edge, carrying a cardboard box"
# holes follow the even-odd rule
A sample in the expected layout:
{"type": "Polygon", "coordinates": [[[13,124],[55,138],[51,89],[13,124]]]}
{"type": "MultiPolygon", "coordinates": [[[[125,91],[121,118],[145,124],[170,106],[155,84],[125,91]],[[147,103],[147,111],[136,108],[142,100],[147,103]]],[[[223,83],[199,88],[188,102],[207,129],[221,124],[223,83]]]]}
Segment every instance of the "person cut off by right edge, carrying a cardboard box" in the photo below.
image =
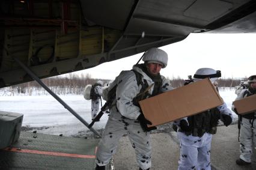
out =
{"type": "MultiPolygon", "coordinates": [[[[248,89],[243,89],[236,100],[256,94],[256,75],[250,76],[248,83],[248,89]]],[[[234,105],[232,105],[232,110],[238,114],[234,105]]],[[[240,121],[240,158],[236,160],[236,163],[243,166],[251,164],[253,145],[256,146],[256,112],[242,115],[240,121]]]]}

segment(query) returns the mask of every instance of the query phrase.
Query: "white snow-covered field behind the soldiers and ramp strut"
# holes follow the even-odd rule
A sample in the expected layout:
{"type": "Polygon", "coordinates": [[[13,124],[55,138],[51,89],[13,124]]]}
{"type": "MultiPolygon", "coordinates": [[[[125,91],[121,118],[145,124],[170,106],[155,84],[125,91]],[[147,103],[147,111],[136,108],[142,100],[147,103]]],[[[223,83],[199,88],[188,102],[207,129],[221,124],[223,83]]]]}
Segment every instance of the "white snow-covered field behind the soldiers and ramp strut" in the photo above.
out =
{"type": "MultiPolygon", "coordinates": [[[[220,90],[220,95],[231,109],[236,99],[234,89],[220,90]]],[[[91,123],[91,100],[85,100],[78,95],[59,96],[85,121],[91,123]]],[[[105,101],[102,103],[104,105],[105,101]]],[[[35,127],[38,133],[64,136],[84,136],[92,133],[74,115],[64,108],[52,96],[0,96],[0,111],[17,112],[23,114],[22,126],[35,127]]],[[[234,114],[234,118],[237,118],[234,114]]],[[[100,130],[105,127],[108,115],[104,114],[99,122],[93,126],[100,130]]]]}

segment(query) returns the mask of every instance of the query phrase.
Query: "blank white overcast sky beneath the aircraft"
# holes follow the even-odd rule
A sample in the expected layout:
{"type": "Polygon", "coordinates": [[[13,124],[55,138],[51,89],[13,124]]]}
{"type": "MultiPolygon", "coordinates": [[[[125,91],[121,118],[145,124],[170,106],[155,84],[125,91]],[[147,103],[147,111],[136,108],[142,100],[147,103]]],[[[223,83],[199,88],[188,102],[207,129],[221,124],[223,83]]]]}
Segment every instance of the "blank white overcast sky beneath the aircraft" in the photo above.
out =
{"type": "MultiPolygon", "coordinates": [[[[165,77],[194,75],[198,68],[221,70],[222,77],[249,77],[256,74],[256,34],[190,34],[185,40],[160,47],[168,53],[165,77]]],[[[115,79],[122,70],[130,70],[142,53],[106,62],[76,73],[97,79],[115,79]]]]}

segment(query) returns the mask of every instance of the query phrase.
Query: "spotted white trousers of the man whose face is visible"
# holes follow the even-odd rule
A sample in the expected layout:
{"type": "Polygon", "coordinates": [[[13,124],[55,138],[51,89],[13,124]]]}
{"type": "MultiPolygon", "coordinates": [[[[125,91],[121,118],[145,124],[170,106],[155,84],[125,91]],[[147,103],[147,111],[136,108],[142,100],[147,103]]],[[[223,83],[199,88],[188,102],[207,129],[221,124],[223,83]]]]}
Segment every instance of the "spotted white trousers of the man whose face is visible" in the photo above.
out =
{"type": "MultiPolygon", "coordinates": [[[[111,115],[112,116],[112,115],[111,115]]],[[[109,117],[103,132],[102,139],[96,153],[96,163],[103,166],[109,163],[109,160],[115,154],[119,139],[127,134],[132,147],[135,149],[136,160],[139,167],[148,169],[151,167],[151,145],[150,133],[143,132],[141,125],[136,120],[128,118],[109,117]]]]}

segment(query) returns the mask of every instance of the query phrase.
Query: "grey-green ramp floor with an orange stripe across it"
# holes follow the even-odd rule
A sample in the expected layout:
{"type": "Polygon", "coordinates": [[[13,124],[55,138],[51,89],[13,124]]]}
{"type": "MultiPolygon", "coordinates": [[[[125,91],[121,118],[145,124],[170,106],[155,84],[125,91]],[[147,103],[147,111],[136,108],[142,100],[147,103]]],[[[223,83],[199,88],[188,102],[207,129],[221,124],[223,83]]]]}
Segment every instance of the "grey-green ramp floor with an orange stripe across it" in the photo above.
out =
{"type": "Polygon", "coordinates": [[[94,169],[99,139],[21,132],[0,150],[0,169],[94,169]]]}

